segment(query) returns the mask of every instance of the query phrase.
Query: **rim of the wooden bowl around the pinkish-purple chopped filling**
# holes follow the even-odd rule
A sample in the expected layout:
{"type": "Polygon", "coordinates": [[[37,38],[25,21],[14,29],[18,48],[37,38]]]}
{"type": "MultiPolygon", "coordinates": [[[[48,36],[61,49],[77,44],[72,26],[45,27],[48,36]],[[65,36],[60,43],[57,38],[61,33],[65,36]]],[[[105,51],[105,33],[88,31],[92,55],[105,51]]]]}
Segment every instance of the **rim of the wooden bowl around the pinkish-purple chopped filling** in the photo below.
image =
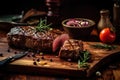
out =
{"type": "Polygon", "coordinates": [[[62,25],[65,26],[65,27],[69,27],[69,28],[89,28],[89,27],[94,26],[95,24],[96,24],[95,21],[93,21],[92,19],[88,19],[88,18],[68,18],[68,19],[65,19],[65,20],[62,21],[62,25]],[[92,24],[89,25],[89,26],[85,26],[85,27],[71,27],[69,25],[64,24],[66,21],[68,21],[70,19],[84,19],[84,20],[88,20],[92,24]]]}

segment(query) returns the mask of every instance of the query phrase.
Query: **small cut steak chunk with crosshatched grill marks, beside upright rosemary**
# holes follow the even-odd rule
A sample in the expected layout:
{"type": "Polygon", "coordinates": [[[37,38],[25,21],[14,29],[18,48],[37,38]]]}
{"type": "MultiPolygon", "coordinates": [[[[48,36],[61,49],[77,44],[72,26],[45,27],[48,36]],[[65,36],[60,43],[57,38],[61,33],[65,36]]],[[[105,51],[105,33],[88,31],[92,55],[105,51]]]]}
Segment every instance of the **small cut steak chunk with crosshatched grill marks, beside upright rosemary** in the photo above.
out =
{"type": "Polygon", "coordinates": [[[66,40],[59,51],[59,57],[65,60],[76,61],[80,52],[83,51],[83,42],[81,40],[66,40]]]}

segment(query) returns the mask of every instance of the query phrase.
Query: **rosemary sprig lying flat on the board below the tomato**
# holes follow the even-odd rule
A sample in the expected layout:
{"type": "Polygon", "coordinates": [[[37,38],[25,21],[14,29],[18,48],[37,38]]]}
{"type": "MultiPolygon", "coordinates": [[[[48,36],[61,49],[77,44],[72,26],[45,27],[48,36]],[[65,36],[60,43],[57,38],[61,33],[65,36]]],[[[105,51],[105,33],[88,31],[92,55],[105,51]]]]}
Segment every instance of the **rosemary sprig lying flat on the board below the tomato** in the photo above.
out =
{"type": "Polygon", "coordinates": [[[107,49],[107,50],[113,50],[116,48],[116,46],[114,45],[108,45],[108,44],[94,44],[91,45],[94,48],[98,48],[98,49],[107,49]]]}

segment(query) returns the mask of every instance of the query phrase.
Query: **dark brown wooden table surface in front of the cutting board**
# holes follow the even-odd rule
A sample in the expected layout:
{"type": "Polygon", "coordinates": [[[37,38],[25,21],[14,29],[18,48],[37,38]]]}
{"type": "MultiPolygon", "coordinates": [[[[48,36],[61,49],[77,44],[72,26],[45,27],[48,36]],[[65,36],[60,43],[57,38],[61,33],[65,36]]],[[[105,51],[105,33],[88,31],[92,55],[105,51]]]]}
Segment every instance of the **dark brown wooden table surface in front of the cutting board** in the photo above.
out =
{"type": "Polygon", "coordinates": [[[101,72],[101,76],[92,76],[89,78],[76,77],[62,77],[62,76],[45,76],[34,74],[20,74],[20,73],[0,73],[1,80],[120,80],[120,66],[105,69],[101,72]]]}

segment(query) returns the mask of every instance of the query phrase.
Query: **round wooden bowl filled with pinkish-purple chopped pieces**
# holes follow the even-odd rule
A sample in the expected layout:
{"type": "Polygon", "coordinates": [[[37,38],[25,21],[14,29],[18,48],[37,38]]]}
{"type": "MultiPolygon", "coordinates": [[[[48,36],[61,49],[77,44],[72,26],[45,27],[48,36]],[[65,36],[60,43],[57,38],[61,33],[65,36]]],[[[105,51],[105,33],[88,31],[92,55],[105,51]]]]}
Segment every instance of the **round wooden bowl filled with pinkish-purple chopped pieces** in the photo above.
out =
{"type": "Polygon", "coordinates": [[[95,22],[93,20],[86,18],[69,18],[62,21],[63,29],[72,39],[88,38],[94,25],[95,22]]]}

